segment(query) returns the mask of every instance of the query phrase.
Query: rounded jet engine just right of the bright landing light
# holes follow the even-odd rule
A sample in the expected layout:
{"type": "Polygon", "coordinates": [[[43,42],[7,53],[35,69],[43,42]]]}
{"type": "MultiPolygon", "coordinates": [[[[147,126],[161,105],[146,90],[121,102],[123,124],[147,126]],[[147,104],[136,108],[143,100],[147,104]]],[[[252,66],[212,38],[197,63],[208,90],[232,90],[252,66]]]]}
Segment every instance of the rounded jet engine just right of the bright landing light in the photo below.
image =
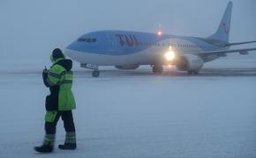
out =
{"type": "Polygon", "coordinates": [[[204,61],[197,55],[184,54],[177,58],[176,68],[180,71],[198,71],[204,65],[204,61]]]}

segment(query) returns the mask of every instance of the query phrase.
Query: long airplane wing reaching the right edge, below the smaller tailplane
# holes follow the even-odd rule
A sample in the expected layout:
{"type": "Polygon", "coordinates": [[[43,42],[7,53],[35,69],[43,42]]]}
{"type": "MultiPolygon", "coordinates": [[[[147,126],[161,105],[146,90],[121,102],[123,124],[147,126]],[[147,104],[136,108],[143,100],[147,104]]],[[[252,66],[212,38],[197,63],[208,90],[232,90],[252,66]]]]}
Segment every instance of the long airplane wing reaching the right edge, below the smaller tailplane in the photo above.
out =
{"type": "Polygon", "coordinates": [[[256,48],[247,48],[247,49],[233,49],[233,50],[221,50],[221,51],[207,51],[201,52],[201,55],[206,54],[230,54],[230,53],[239,53],[239,54],[248,54],[248,51],[255,51],[256,48]]]}

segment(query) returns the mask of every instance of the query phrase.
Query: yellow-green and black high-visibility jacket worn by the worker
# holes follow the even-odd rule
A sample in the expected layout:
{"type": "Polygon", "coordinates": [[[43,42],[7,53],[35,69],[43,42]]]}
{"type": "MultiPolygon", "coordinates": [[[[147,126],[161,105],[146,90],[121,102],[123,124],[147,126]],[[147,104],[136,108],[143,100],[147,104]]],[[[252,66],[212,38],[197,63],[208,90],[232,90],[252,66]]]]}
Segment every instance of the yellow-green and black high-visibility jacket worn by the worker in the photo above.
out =
{"type": "Polygon", "coordinates": [[[72,61],[57,59],[49,69],[46,80],[50,95],[46,99],[48,111],[71,111],[76,108],[72,94],[72,61]]]}

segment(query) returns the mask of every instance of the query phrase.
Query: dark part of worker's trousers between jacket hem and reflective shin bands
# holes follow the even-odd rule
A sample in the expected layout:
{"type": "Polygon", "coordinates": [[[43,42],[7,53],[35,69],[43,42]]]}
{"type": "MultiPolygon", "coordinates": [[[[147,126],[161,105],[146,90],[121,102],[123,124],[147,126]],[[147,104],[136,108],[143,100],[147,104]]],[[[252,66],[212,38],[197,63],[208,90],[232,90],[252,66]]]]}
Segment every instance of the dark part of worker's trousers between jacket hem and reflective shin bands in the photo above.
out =
{"type": "Polygon", "coordinates": [[[76,131],[72,111],[57,111],[54,122],[45,122],[44,128],[46,134],[56,133],[56,124],[60,117],[64,121],[64,129],[66,133],[72,133],[76,131]]]}

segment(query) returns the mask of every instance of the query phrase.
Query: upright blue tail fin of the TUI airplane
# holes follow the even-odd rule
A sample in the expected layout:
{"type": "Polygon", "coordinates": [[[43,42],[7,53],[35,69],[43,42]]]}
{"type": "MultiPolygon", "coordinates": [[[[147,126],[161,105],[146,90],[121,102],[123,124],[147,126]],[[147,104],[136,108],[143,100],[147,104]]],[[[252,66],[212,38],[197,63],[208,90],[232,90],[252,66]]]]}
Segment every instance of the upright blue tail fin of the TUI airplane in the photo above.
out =
{"type": "Polygon", "coordinates": [[[219,28],[215,34],[208,37],[208,39],[216,39],[221,40],[223,42],[228,43],[230,39],[230,21],[231,21],[231,14],[232,14],[232,7],[233,3],[229,2],[226,11],[222,17],[222,21],[219,25],[219,28]]]}

